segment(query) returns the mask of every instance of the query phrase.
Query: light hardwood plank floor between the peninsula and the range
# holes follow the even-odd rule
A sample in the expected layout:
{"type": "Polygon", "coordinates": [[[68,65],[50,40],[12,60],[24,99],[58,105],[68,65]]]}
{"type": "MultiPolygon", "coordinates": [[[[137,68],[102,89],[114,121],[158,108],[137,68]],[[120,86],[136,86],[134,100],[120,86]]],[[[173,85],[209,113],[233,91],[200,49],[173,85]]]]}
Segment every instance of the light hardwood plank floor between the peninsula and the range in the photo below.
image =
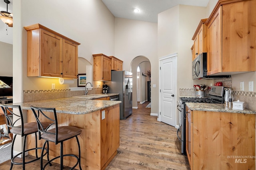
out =
{"type": "MultiPolygon", "coordinates": [[[[149,102],[138,104],[138,109],[125,120],[120,120],[120,147],[106,170],[189,170],[187,157],[180,154],[177,129],[150,116],[149,102]]],[[[26,164],[28,170],[38,170],[40,162],[26,164]]],[[[0,165],[8,170],[10,161],[0,165]]],[[[14,165],[13,170],[22,166],[14,165]]],[[[54,164],[49,170],[59,169],[54,164]]],[[[68,168],[65,168],[68,169],[68,168]]]]}

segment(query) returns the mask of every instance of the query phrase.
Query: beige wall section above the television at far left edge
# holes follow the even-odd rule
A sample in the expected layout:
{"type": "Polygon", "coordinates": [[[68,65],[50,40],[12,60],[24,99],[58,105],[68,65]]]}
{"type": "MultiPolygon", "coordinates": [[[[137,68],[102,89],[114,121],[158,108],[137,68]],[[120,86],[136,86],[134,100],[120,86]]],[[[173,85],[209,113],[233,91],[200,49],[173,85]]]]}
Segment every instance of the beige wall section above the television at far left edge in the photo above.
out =
{"type": "Polygon", "coordinates": [[[12,77],[12,44],[0,42],[0,76],[12,77]]]}

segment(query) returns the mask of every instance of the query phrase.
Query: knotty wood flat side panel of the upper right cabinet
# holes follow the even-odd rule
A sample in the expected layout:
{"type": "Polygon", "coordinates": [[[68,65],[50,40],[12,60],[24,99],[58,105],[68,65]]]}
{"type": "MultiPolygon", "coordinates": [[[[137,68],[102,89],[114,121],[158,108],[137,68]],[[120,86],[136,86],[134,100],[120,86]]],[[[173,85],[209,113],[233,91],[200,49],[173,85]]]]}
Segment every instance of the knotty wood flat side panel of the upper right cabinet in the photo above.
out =
{"type": "Polygon", "coordinates": [[[222,72],[255,71],[255,7],[255,0],[222,5],[222,72]]]}

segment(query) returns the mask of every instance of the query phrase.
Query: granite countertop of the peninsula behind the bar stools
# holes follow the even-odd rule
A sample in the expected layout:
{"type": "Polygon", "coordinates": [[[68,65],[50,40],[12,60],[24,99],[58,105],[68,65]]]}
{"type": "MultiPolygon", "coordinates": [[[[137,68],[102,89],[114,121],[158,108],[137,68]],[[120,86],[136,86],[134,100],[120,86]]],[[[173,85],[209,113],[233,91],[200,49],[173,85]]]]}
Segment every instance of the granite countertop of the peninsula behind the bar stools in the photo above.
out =
{"type": "Polygon", "coordinates": [[[87,114],[104,109],[106,107],[120,104],[121,101],[110,100],[88,100],[88,98],[58,98],[50,100],[38,100],[32,102],[14,103],[20,105],[22,109],[30,110],[31,106],[36,107],[55,107],[57,113],[68,114],[87,114]]]}

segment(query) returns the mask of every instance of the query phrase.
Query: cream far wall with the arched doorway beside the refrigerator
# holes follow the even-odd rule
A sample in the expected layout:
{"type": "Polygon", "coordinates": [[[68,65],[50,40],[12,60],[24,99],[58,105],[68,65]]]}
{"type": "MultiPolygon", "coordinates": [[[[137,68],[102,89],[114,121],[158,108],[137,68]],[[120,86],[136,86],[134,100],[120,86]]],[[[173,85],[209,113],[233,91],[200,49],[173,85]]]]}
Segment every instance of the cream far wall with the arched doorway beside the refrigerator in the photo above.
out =
{"type": "MultiPolygon", "coordinates": [[[[124,61],[123,70],[133,70],[137,75],[137,67],[143,62],[138,60],[136,66],[131,68],[132,60],[138,56],[146,57],[151,64],[151,81],[157,84],[152,88],[151,113],[158,113],[158,57],[157,57],[157,23],[115,18],[115,57],[124,61]]],[[[145,60],[144,60],[145,61],[145,60]]],[[[133,85],[136,84],[133,79],[133,85]]],[[[133,90],[133,107],[137,106],[137,98],[133,90]]]]}

